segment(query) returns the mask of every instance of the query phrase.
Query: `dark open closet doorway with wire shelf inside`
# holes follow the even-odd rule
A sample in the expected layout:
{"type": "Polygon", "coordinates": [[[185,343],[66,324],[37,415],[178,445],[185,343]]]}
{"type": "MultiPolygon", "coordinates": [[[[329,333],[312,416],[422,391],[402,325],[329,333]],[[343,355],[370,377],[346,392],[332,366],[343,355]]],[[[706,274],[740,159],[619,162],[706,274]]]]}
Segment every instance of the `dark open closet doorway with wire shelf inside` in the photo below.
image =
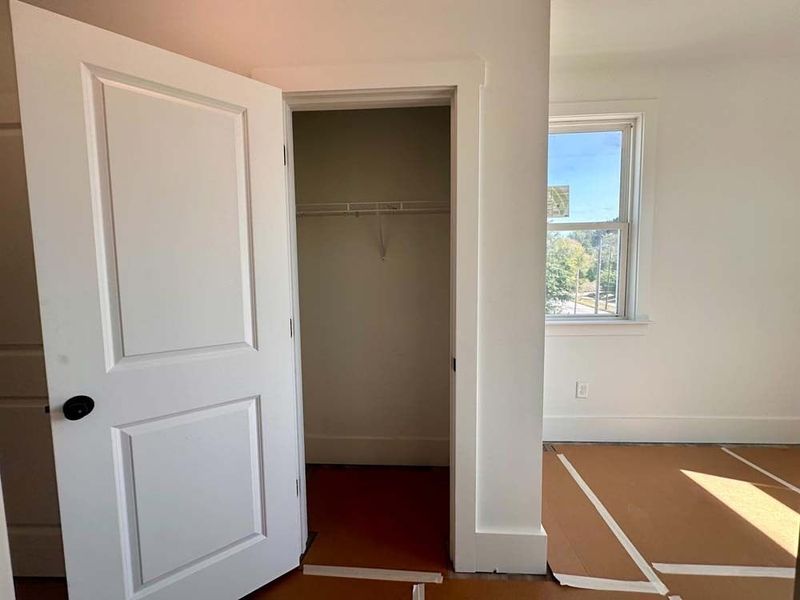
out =
{"type": "Polygon", "coordinates": [[[451,568],[451,109],[433,104],[288,113],[306,564],[451,568]]]}

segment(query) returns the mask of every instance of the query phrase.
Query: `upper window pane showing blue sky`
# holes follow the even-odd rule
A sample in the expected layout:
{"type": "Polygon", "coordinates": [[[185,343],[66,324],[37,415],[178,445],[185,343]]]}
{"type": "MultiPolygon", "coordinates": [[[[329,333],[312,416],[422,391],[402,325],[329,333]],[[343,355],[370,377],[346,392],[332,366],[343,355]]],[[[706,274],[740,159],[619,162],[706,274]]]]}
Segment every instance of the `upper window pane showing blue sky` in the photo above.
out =
{"type": "Polygon", "coordinates": [[[551,133],[548,222],[617,221],[621,170],[621,131],[551,133]]]}

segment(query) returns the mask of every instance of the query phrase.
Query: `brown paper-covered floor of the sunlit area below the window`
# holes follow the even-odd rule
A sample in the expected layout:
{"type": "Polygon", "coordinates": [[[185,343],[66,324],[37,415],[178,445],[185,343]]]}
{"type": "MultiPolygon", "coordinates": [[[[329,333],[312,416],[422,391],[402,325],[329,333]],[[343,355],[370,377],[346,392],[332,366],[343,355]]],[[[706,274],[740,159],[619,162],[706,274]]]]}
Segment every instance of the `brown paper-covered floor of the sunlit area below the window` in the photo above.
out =
{"type": "Polygon", "coordinates": [[[542,519],[555,573],[647,582],[638,555],[682,600],[792,597],[792,579],[785,577],[793,576],[797,556],[800,447],[561,444],[548,450],[542,519]],[[720,567],[728,574],[710,575],[720,567]],[[701,574],[687,574],[698,569],[701,574]]]}

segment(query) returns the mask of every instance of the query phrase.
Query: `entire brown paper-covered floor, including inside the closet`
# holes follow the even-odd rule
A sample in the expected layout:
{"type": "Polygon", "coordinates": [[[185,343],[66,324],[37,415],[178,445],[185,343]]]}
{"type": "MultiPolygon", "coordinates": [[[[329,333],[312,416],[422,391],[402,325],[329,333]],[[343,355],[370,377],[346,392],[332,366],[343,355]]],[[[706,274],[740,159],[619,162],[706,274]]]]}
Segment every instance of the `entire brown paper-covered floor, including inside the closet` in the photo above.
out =
{"type": "MultiPolygon", "coordinates": [[[[800,526],[798,446],[731,448],[738,458],[719,446],[582,444],[546,450],[542,517],[549,536],[549,565],[557,576],[647,585],[643,570],[586,490],[648,566],[780,569],[795,564],[800,526]]],[[[566,587],[552,573],[547,577],[453,573],[447,551],[448,485],[447,469],[440,468],[310,467],[309,529],[314,538],[304,563],[441,572],[442,584],[425,586],[429,600],[658,597],[566,587]]],[[[785,578],[663,573],[656,577],[671,597],[681,600],[792,597],[792,580],[785,578]]],[[[20,580],[17,594],[18,600],[66,599],[65,586],[58,580],[20,580]]],[[[248,596],[248,600],[313,598],[409,600],[411,584],[314,577],[296,570],[248,596]]]]}

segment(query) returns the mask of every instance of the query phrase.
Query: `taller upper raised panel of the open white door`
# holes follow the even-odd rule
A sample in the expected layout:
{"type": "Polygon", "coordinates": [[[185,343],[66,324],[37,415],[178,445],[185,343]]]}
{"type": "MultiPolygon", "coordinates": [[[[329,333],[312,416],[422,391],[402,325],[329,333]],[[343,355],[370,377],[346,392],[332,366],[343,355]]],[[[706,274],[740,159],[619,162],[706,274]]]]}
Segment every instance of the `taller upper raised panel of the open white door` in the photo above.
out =
{"type": "Polygon", "coordinates": [[[108,366],[254,346],[246,111],[84,76],[108,366]]]}

